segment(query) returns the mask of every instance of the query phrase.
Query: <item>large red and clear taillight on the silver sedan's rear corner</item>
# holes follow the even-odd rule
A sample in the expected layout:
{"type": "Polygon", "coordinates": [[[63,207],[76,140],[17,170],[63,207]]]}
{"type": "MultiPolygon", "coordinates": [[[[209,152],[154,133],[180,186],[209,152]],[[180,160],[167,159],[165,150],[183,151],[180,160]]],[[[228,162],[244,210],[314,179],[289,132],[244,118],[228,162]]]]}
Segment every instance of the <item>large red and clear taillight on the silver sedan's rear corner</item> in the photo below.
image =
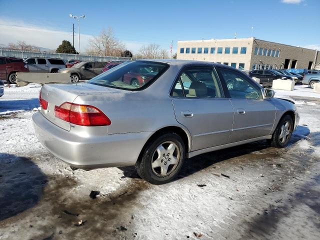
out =
{"type": "Polygon", "coordinates": [[[64,121],[81,126],[105,126],[111,124],[110,119],[95,106],[63,102],[60,106],[54,106],[54,114],[64,121]]]}

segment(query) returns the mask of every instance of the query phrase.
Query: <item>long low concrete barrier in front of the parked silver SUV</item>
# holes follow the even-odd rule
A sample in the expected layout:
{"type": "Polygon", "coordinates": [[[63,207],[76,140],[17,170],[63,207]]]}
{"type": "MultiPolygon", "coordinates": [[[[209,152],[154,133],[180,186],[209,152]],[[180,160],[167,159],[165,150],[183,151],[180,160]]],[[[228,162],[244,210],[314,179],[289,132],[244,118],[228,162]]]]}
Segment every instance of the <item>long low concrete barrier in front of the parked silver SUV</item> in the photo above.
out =
{"type": "Polygon", "coordinates": [[[71,83],[70,73],[46,73],[46,72],[17,72],[16,84],[25,86],[31,82],[35,83],[71,83]]]}

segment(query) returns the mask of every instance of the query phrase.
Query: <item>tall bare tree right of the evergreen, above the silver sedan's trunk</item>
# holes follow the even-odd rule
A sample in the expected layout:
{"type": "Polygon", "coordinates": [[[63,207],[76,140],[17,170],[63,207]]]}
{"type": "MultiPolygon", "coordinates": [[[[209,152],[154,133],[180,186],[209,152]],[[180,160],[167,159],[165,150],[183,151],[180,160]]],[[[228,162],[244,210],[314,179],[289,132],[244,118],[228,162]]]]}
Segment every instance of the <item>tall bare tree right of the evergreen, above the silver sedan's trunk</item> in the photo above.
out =
{"type": "Polygon", "coordinates": [[[90,39],[89,44],[86,53],[91,55],[121,56],[121,52],[125,50],[124,44],[114,36],[111,27],[102,29],[98,36],[90,39]]]}

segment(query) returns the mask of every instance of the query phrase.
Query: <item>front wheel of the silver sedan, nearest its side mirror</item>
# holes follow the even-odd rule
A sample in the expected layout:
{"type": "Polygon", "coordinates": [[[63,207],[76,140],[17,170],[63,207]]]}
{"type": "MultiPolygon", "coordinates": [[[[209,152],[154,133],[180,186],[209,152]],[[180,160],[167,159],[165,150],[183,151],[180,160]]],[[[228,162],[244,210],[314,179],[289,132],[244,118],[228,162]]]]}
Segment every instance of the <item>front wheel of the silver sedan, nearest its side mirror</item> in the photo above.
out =
{"type": "Polygon", "coordinates": [[[287,143],[290,140],[292,131],[293,131],[293,119],[290,115],[284,115],[278,125],[276,126],[273,134],[272,134],[272,138],[271,138],[271,146],[276,147],[276,148],[282,148],[285,147],[287,145],[287,143]],[[285,124],[288,123],[289,126],[286,127],[285,124]],[[286,128],[286,130],[284,131],[283,126],[286,128]],[[283,132],[284,131],[284,132],[283,132]],[[287,135],[286,135],[287,133],[287,135]],[[285,139],[282,137],[281,138],[281,134],[285,134],[285,139]],[[282,139],[282,140],[281,140],[282,139]]]}

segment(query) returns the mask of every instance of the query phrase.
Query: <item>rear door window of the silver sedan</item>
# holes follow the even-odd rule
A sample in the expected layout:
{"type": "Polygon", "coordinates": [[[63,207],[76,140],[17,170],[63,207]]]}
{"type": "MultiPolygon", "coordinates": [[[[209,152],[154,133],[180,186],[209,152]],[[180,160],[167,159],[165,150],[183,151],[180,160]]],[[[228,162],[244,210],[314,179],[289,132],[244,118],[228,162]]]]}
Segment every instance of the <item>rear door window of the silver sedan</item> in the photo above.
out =
{"type": "Polygon", "coordinates": [[[185,68],[176,79],[171,91],[172,96],[218,98],[221,87],[212,67],[185,68]]]}

